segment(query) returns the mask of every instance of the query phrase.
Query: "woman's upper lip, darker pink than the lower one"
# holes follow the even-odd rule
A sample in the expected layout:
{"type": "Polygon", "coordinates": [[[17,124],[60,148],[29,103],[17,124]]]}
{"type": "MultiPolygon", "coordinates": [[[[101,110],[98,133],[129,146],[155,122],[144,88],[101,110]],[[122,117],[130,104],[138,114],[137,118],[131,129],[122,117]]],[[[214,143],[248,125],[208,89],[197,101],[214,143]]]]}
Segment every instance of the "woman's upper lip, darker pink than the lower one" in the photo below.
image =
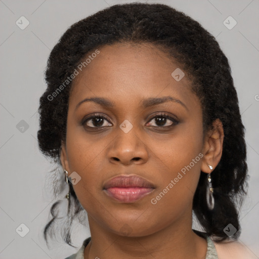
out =
{"type": "Polygon", "coordinates": [[[131,175],[131,176],[120,175],[120,176],[114,177],[104,184],[103,189],[108,189],[112,187],[155,188],[152,183],[137,175],[131,175]]]}

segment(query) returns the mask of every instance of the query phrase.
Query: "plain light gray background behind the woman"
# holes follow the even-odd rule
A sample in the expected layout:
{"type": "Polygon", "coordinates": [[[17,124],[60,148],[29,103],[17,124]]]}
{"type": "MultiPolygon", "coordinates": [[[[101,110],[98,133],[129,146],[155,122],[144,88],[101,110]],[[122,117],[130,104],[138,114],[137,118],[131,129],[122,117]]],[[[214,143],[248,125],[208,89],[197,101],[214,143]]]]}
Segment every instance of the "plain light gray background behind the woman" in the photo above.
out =
{"type": "MultiPolygon", "coordinates": [[[[109,5],[129,2],[133,1],[0,0],[0,258],[65,258],[77,251],[78,248],[62,242],[53,243],[49,249],[42,237],[42,229],[49,221],[50,207],[55,201],[46,184],[46,181],[50,182],[49,171],[54,165],[39,153],[36,141],[36,112],[39,97],[46,88],[44,70],[50,50],[71,24],[109,5]],[[16,25],[21,16],[30,22],[24,30],[16,25]],[[29,127],[26,128],[21,120],[29,127]],[[22,223],[29,229],[24,237],[16,232],[22,223]]],[[[259,2],[145,2],[164,3],[190,15],[217,37],[230,61],[246,127],[250,175],[249,192],[240,215],[240,242],[259,257],[259,2]],[[237,21],[231,30],[223,23],[229,16],[237,21]]],[[[24,227],[18,229],[20,233],[25,231],[24,227]]],[[[88,236],[88,228],[74,226],[75,246],[80,247],[88,236]]]]}

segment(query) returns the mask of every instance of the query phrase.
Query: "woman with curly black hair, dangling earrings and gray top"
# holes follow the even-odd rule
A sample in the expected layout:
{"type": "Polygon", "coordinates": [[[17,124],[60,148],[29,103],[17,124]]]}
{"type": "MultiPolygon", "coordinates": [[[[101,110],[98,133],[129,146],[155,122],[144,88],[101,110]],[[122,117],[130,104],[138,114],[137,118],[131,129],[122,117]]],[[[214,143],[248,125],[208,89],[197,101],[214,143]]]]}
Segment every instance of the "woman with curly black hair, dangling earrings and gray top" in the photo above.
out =
{"type": "Polygon", "coordinates": [[[248,177],[237,93],[198,22],[161,4],[112,6],[63,34],[46,81],[39,147],[69,185],[64,226],[85,210],[91,232],[67,259],[253,258],[236,241],[248,177]]]}

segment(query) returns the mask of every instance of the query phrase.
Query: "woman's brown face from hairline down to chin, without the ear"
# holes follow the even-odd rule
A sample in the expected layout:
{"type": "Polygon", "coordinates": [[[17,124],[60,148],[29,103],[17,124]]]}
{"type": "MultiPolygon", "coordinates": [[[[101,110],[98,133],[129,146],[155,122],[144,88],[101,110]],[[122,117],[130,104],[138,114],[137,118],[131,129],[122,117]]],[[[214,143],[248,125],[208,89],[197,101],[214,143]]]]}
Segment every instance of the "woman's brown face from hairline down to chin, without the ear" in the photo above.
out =
{"type": "Polygon", "coordinates": [[[152,45],[99,51],[74,80],[61,155],[69,175],[76,172],[78,200],[95,224],[119,235],[144,236],[191,219],[204,145],[187,75],[152,45]],[[90,98],[106,103],[83,101],[90,98]],[[113,198],[104,185],[121,175],[142,177],[153,189],[135,201],[113,198]]]}

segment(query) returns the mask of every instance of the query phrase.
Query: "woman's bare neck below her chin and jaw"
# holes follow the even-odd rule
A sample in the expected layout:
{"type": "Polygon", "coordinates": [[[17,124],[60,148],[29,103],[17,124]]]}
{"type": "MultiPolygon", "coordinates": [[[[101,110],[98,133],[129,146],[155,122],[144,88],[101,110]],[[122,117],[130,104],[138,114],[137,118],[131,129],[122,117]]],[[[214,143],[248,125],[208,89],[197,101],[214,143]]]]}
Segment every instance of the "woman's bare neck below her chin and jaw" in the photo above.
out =
{"type": "Polygon", "coordinates": [[[192,231],[192,218],[179,221],[146,236],[121,236],[105,230],[88,215],[91,241],[84,250],[89,258],[205,258],[207,242],[192,231]]]}

